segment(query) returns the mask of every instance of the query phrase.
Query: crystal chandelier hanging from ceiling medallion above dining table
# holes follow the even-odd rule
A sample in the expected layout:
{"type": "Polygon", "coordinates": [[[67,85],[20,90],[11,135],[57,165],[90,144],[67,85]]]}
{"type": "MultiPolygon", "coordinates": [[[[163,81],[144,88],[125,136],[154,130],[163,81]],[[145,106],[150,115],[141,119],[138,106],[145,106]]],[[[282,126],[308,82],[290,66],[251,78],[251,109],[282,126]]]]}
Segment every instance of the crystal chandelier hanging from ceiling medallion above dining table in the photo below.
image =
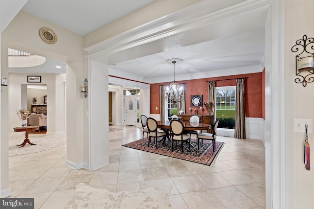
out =
{"type": "Polygon", "coordinates": [[[167,102],[172,102],[172,103],[177,103],[177,102],[181,102],[182,101],[182,89],[179,89],[179,84],[176,83],[175,80],[175,64],[176,63],[181,63],[183,60],[182,59],[168,59],[166,60],[166,63],[173,63],[173,82],[172,84],[170,84],[170,89],[169,87],[167,87],[167,91],[166,91],[166,100],[167,102]],[[179,89],[179,93],[178,93],[178,98],[177,98],[177,91],[179,89]],[[172,96],[170,96],[170,94],[172,93],[172,96]]]}

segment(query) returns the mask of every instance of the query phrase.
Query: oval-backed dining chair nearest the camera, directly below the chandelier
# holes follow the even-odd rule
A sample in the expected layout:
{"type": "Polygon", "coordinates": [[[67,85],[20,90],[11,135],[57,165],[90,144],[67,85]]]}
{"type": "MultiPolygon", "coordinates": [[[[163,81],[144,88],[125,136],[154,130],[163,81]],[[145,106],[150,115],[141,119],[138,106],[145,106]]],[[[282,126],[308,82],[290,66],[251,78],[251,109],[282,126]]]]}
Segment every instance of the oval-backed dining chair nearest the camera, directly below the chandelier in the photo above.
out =
{"type": "Polygon", "coordinates": [[[183,133],[184,125],[180,120],[171,120],[170,122],[170,130],[172,132],[172,146],[171,151],[173,151],[173,142],[181,141],[181,152],[183,153],[183,142],[188,140],[188,149],[190,149],[191,145],[191,137],[187,134],[183,133]]]}

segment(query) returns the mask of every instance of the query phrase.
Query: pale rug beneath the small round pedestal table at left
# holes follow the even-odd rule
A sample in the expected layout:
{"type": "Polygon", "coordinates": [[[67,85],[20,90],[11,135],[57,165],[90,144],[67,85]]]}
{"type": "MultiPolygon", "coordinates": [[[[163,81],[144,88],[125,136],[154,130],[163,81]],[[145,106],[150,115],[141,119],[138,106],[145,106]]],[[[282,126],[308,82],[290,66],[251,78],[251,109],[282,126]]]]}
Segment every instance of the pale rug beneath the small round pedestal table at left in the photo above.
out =
{"type": "Polygon", "coordinates": [[[26,143],[24,147],[17,146],[23,143],[25,135],[14,136],[14,139],[9,139],[9,157],[17,155],[26,155],[36,152],[42,152],[62,146],[66,143],[67,137],[62,135],[28,135],[30,142],[36,145],[26,143]]]}

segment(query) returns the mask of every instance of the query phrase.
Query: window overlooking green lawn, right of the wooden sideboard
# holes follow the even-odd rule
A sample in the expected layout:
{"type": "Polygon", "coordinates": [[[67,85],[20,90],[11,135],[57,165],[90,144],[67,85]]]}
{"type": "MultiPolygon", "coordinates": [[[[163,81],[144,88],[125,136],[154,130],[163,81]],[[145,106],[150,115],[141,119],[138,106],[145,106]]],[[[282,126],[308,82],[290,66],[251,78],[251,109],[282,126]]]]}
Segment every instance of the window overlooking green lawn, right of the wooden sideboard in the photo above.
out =
{"type": "Polygon", "coordinates": [[[216,87],[216,118],[220,117],[218,128],[235,129],[236,86],[216,87]]]}

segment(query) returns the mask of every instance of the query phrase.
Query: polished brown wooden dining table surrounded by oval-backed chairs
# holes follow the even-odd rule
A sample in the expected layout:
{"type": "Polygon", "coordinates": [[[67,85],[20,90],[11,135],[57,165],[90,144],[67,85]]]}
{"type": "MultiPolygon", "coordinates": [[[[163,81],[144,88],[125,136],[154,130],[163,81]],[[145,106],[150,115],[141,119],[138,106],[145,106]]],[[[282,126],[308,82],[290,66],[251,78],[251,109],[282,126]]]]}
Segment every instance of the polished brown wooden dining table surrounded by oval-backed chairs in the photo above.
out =
{"type": "MultiPolygon", "coordinates": [[[[163,130],[166,133],[166,138],[171,141],[171,139],[169,138],[170,122],[171,121],[169,120],[157,120],[157,127],[163,130]]],[[[183,128],[184,131],[197,131],[197,130],[202,131],[210,129],[210,125],[208,123],[195,123],[195,122],[182,122],[182,123],[184,126],[183,128]]],[[[166,141],[164,140],[162,144],[165,143],[166,141]]]]}

